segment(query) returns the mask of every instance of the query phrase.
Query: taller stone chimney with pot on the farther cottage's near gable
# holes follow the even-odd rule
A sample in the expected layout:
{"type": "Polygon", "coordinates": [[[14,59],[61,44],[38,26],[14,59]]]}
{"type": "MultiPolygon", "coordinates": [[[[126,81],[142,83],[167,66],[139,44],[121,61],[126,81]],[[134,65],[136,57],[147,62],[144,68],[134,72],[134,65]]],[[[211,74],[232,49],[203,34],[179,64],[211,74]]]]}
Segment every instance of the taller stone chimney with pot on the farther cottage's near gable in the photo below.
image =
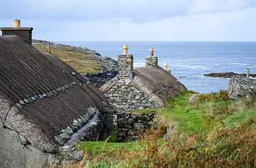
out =
{"type": "Polygon", "coordinates": [[[128,47],[124,45],[123,54],[118,55],[118,76],[120,79],[132,79],[133,55],[127,54],[128,47]]]}

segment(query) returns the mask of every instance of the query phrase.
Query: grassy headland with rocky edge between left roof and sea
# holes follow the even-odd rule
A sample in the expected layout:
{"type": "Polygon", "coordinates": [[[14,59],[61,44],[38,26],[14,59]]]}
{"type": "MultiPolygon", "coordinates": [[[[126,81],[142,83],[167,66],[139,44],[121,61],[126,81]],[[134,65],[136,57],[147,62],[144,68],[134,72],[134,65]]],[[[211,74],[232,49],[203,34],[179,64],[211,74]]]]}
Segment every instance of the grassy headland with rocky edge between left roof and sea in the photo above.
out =
{"type": "Polygon", "coordinates": [[[100,87],[117,75],[117,61],[110,57],[102,57],[95,50],[45,40],[33,40],[33,46],[41,52],[50,52],[59,57],[95,86],[100,87]]]}

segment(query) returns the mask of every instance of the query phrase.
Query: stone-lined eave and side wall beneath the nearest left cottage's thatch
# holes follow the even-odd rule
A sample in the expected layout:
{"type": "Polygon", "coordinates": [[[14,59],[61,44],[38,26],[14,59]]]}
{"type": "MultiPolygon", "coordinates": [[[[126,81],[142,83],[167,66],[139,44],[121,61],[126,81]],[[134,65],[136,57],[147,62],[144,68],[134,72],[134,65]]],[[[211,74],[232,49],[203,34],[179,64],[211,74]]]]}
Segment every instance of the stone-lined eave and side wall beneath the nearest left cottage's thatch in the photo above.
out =
{"type": "Polygon", "coordinates": [[[74,145],[78,140],[105,140],[112,130],[113,116],[97,110],[87,108],[87,113],[74,118],[68,128],[63,129],[60,135],[55,136],[59,145],[74,145]]]}

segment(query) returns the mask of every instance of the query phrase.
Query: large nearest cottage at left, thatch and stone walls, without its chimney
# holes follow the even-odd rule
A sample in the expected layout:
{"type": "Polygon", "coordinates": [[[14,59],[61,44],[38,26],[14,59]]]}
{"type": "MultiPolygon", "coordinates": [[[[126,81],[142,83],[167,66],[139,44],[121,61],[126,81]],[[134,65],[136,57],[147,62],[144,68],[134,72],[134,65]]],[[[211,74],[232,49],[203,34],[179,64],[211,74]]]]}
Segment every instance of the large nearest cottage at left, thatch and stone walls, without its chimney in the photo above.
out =
{"type": "Polygon", "coordinates": [[[104,140],[112,129],[104,94],[30,41],[0,36],[0,167],[81,159],[78,140],[104,140]]]}

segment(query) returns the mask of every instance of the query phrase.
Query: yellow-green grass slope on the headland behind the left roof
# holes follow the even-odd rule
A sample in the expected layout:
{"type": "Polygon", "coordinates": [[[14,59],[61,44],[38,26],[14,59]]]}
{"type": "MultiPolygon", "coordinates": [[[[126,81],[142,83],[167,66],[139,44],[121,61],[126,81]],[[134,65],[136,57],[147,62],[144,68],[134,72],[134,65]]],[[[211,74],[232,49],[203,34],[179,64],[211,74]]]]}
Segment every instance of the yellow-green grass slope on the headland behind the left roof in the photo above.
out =
{"type": "MultiPolygon", "coordinates": [[[[48,52],[48,47],[43,47],[42,45],[33,46],[41,52],[48,52]]],[[[61,47],[51,47],[50,52],[79,73],[95,73],[102,69],[102,66],[97,61],[91,59],[91,55],[86,55],[76,50],[63,50],[61,47]]]]}

